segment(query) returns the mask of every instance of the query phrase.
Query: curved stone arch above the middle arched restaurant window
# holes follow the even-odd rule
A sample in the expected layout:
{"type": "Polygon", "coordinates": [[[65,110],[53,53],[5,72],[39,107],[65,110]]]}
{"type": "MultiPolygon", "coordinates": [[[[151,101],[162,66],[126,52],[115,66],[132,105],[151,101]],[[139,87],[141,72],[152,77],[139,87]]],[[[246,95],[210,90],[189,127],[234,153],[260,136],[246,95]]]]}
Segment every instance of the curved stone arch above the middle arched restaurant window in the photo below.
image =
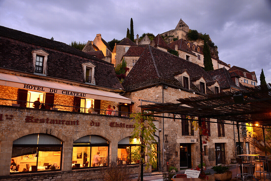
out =
{"type": "Polygon", "coordinates": [[[98,135],[98,136],[103,137],[104,139],[106,139],[109,142],[112,142],[112,141],[114,142],[114,139],[115,139],[113,136],[106,133],[105,131],[91,129],[91,130],[80,131],[77,134],[74,134],[73,141],[75,141],[76,139],[79,139],[83,136],[86,136],[86,135],[98,135]]]}

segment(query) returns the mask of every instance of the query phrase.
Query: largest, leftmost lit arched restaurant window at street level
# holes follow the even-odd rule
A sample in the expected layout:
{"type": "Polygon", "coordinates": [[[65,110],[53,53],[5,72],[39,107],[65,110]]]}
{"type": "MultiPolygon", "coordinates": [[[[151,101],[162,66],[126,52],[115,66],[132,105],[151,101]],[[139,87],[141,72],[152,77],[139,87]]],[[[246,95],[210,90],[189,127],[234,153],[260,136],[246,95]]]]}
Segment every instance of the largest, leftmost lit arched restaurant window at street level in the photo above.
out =
{"type": "Polygon", "coordinates": [[[26,135],[13,141],[11,173],[61,170],[63,143],[47,134],[26,135]]]}

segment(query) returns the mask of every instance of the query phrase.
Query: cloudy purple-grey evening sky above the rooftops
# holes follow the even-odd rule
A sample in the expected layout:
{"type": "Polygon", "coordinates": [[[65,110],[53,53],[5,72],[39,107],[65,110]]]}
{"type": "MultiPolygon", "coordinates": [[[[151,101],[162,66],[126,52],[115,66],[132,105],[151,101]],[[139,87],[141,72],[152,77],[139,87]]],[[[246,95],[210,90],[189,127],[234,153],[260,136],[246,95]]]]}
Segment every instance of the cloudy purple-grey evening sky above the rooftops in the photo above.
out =
{"type": "Polygon", "coordinates": [[[71,43],[122,39],[134,21],[134,34],[163,33],[182,18],[190,29],[207,33],[219,57],[232,66],[263,68],[271,82],[271,1],[19,1],[0,0],[0,25],[71,43]]]}

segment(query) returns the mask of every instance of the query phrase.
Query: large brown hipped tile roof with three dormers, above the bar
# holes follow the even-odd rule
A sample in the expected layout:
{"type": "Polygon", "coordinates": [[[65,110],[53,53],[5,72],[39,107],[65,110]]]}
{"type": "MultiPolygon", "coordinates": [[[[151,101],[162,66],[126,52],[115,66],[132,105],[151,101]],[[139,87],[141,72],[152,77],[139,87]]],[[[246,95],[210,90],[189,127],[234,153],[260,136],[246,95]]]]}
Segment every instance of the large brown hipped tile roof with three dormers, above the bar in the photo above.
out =
{"type": "MultiPolygon", "coordinates": [[[[174,73],[184,71],[184,69],[189,73],[190,78],[202,75],[207,82],[213,81],[201,66],[148,45],[122,82],[122,86],[125,90],[131,90],[164,82],[166,84],[183,87],[182,83],[174,78],[174,73]]],[[[190,89],[199,91],[198,87],[191,81],[190,89]]],[[[209,92],[209,90],[207,92],[209,92]]]]}

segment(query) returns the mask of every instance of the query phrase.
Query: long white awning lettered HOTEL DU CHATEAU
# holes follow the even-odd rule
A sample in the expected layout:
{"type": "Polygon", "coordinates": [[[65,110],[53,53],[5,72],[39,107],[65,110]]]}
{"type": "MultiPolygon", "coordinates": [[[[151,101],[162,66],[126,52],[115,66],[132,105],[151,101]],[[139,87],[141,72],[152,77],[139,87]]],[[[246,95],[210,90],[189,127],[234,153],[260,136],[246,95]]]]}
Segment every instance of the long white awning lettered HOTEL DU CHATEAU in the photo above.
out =
{"type": "Polygon", "coordinates": [[[4,73],[0,73],[0,85],[90,99],[131,103],[131,99],[108,91],[4,73]]]}

